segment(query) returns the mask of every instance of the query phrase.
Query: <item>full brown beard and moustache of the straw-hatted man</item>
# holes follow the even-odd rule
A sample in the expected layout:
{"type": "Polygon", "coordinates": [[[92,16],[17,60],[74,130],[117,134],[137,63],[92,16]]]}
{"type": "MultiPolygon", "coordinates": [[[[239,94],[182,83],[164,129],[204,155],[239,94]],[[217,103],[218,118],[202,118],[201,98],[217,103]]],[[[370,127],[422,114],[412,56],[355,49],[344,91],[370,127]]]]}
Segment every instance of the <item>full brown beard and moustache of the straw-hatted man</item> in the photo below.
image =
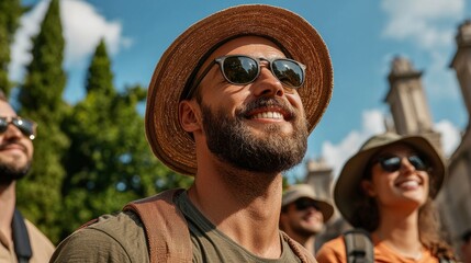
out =
{"type": "Polygon", "coordinates": [[[204,104],[201,107],[208,147],[220,160],[246,171],[265,173],[282,172],[302,161],[307,148],[307,125],[287,103],[260,98],[237,110],[235,118],[221,110],[213,114],[204,104]],[[247,112],[269,105],[291,113],[294,127],[291,135],[281,134],[277,124],[267,124],[267,136],[258,138],[244,124],[247,112]]]}

